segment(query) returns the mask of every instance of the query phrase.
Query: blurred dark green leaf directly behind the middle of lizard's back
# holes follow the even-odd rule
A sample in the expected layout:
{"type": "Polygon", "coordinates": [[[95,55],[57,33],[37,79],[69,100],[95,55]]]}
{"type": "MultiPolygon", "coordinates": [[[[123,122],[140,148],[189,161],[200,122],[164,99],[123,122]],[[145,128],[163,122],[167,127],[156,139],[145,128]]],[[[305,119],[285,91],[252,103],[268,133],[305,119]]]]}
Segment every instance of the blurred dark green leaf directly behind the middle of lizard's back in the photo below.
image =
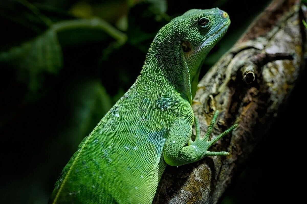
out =
{"type": "MultiPolygon", "coordinates": [[[[70,147],[73,153],[78,144],[87,136],[104,114],[111,108],[112,102],[105,88],[98,80],[72,81],[63,93],[59,114],[66,113],[59,120],[63,121],[60,130],[55,133],[67,141],[65,147],[70,147]]],[[[58,144],[56,144],[56,148],[58,144]]]]}

